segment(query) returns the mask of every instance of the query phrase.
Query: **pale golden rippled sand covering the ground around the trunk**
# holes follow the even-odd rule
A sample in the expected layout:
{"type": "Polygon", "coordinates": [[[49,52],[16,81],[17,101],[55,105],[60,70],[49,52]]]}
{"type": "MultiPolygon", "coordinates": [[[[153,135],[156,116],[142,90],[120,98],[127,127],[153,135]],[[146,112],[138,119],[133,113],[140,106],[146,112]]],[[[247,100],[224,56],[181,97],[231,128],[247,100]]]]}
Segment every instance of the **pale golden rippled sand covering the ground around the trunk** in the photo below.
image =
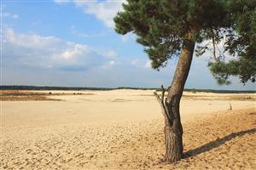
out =
{"type": "Polygon", "coordinates": [[[170,165],[161,161],[163,116],[152,92],[1,102],[0,169],[256,168],[255,94],[184,93],[185,158],[170,165]]]}

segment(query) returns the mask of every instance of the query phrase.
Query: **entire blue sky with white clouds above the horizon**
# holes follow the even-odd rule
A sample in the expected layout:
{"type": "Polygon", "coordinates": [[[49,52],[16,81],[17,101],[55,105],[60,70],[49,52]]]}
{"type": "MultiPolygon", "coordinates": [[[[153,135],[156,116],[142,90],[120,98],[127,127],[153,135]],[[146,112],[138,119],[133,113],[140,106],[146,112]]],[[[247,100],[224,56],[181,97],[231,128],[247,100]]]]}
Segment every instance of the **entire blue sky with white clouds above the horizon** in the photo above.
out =
{"type": "MultiPolygon", "coordinates": [[[[150,68],[136,36],[113,31],[122,1],[2,1],[2,84],[156,88],[172,82],[177,59],[150,68]]],[[[232,77],[218,86],[207,68],[211,54],[194,58],[186,88],[255,90],[232,77]]]]}

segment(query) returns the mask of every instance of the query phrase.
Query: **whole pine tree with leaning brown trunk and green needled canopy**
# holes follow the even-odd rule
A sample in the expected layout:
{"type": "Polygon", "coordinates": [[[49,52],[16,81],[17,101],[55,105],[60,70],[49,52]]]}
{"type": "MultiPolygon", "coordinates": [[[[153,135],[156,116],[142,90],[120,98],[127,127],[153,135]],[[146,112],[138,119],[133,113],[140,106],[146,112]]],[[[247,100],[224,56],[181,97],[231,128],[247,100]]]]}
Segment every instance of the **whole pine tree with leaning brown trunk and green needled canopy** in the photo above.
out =
{"type": "Polygon", "coordinates": [[[230,75],[255,81],[256,0],[127,0],[123,7],[114,18],[115,31],[135,33],[154,69],[179,57],[171,88],[162,88],[161,97],[155,94],[165,116],[165,160],[178,161],[183,157],[179,105],[194,51],[212,52],[209,67],[219,83],[229,83],[230,75]],[[220,42],[224,52],[218,53],[220,42]],[[224,54],[236,59],[225,61],[224,54]]]}

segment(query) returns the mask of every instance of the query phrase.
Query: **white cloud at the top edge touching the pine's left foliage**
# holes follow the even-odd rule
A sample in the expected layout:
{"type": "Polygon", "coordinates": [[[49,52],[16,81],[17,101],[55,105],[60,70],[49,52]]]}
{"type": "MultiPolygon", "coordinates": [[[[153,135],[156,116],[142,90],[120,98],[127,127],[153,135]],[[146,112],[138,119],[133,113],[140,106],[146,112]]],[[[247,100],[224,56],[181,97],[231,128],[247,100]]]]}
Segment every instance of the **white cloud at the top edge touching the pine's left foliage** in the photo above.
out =
{"type": "Polygon", "coordinates": [[[105,26],[113,27],[113,17],[118,13],[118,11],[122,10],[122,3],[125,3],[125,0],[119,1],[103,1],[97,2],[94,1],[80,1],[73,0],[73,2],[84,8],[85,14],[94,14],[97,19],[102,20],[105,26]]]}

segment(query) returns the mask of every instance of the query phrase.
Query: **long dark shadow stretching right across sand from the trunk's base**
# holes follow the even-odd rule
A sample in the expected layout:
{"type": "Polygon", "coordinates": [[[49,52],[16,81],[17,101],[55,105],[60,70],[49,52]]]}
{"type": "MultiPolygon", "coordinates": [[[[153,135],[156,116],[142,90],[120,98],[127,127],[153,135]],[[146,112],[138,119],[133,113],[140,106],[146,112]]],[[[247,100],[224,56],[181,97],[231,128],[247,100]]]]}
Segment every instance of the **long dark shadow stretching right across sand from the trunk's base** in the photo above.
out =
{"type": "Polygon", "coordinates": [[[252,128],[252,129],[249,129],[249,130],[246,130],[246,131],[241,131],[241,132],[238,132],[238,133],[230,133],[229,135],[225,136],[224,138],[216,139],[216,140],[214,140],[212,142],[209,142],[207,144],[204,144],[204,145],[202,145],[202,146],[200,146],[200,147],[198,147],[194,150],[189,150],[189,151],[185,152],[183,158],[196,156],[196,155],[201,154],[203,152],[212,150],[214,148],[217,148],[219,145],[224,144],[227,141],[230,141],[231,139],[234,139],[234,138],[239,137],[239,136],[243,136],[247,133],[256,133],[256,128],[252,128]]]}

